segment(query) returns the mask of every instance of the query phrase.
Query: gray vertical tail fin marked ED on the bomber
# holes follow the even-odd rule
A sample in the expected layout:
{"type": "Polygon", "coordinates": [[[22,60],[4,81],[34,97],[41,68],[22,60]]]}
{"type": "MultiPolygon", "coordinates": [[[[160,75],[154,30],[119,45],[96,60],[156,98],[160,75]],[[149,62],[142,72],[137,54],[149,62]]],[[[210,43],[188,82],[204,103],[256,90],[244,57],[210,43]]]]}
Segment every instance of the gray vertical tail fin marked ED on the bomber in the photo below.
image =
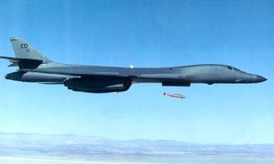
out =
{"type": "Polygon", "coordinates": [[[12,37],[11,39],[15,57],[18,59],[38,59],[44,62],[51,62],[51,60],[43,57],[43,55],[35,50],[30,43],[19,38],[12,37]]]}

